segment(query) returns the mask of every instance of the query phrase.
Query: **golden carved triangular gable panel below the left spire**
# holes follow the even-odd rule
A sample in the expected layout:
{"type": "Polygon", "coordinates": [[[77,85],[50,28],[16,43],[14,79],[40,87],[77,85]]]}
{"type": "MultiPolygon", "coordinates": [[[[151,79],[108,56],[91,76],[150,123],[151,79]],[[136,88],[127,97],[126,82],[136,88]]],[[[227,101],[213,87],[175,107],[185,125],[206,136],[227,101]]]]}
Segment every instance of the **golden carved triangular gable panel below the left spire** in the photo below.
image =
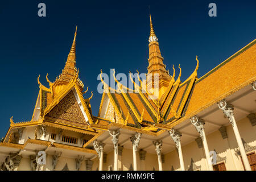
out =
{"type": "Polygon", "coordinates": [[[85,118],[76,101],[73,92],[69,92],[67,96],[63,98],[46,117],[53,122],[65,123],[65,124],[85,124],[85,118]]]}

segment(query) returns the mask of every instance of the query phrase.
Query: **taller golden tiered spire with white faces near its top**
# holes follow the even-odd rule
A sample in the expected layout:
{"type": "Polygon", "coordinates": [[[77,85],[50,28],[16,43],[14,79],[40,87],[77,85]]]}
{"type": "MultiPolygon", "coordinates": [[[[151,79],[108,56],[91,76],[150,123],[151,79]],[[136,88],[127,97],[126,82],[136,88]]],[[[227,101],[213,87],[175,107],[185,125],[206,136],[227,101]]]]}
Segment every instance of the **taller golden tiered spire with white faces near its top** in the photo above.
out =
{"type": "Polygon", "coordinates": [[[169,75],[169,72],[166,71],[166,65],[163,64],[163,57],[160,52],[158,38],[155,35],[155,31],[153,28],[153,23],[151,19],[150,14],[150,37],[148,38],[148,49],[149,49],[149,55],[148,55],[148,77],[152,77],[152,82],[148,83],[147,86],[154,87],[156,83],[154,83],[154,77],[155,74],[158,74],[159,82],[158,82],[158,88],[159,88],[159,97],[162,93],[166,90],[170,80],[171,76],[169,75]]]}

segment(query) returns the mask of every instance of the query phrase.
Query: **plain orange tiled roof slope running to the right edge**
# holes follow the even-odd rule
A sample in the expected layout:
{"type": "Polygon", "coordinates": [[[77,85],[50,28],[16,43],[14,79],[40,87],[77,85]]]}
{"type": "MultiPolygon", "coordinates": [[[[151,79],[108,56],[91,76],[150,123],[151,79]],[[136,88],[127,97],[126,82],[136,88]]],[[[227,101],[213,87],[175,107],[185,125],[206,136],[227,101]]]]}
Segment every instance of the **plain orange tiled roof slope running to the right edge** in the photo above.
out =
{"type": "Polygon", "coordinates": [[[256,39],[196,81],[185,115],[205,109],[256,80],[256,39]]]}

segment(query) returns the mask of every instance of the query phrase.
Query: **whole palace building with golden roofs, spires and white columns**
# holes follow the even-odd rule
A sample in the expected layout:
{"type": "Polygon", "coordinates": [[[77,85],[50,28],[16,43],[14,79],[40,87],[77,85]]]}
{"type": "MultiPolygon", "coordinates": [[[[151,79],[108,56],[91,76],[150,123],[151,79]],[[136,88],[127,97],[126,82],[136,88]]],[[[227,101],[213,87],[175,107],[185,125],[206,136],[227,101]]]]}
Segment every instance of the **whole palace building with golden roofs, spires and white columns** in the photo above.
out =
{"type": "Polygon", "coordinates": [[[150,15],[152,81],[130,77],[134,92],[114,73],[115,90],[101,71],[104,93],[94,116],[93,93],[83,96],[88,88],[76,68],[76,34],[59,77],[51,82],[47,75],[47,87],[39,75],[31,121],[10,118],[1,170],[256,170],[256,39],[200,78],[196,56],[181,82],[180,66],[170,75],[163,63],[150,15]]]}

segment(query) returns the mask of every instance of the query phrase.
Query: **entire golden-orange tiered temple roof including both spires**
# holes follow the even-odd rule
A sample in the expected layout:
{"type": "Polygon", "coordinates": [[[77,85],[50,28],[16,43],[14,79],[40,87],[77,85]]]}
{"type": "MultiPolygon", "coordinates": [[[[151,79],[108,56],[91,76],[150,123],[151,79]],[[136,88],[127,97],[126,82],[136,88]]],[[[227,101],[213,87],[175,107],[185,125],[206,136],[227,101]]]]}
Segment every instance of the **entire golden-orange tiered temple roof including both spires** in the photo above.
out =
{"type": "MultiPolygon", "coordinates": [[[[90,106],[92,96],[83,97],[88,89],[83,92],[84,84],[80,81],[76,68],[75,32],[71,51],[60,76],[55,82],[49,81],[48,75],[46,76],[49,88],[42,85],[40,76],[38,77],[39,94],[31,121],[14,123],[11,118],[10,129],[44,124],[92,134],[93,140],[101,134],[100,130],[118,126],[156,136],[161,133],[159,128],[174,127],[256,80],[256,39],[201,78],[197,78],[199,60],[196,56],[195,71],[184,82],[180,80],[180,66],[176,80],[174,67],[172,76],[166,71],[151,16],[149,42],[148,73],[159,74],[160,94],[156,100],[152,100],[145,87],[137,85],[132,79],[134,88],[140,90],[139,93],[126,92],[129,89],[115,77],[118,90],[114,90],[101,78],[104,93],[98,117],[94,117],[90,106]],[[104,109],[105,98],[109,98],[110,102],[105,103],[107,108],[104,109]],[[102,112],[106,114],[103,115],[102,112]]],[[[142,83],[141,80],[140,82],[142,83]]]]}

